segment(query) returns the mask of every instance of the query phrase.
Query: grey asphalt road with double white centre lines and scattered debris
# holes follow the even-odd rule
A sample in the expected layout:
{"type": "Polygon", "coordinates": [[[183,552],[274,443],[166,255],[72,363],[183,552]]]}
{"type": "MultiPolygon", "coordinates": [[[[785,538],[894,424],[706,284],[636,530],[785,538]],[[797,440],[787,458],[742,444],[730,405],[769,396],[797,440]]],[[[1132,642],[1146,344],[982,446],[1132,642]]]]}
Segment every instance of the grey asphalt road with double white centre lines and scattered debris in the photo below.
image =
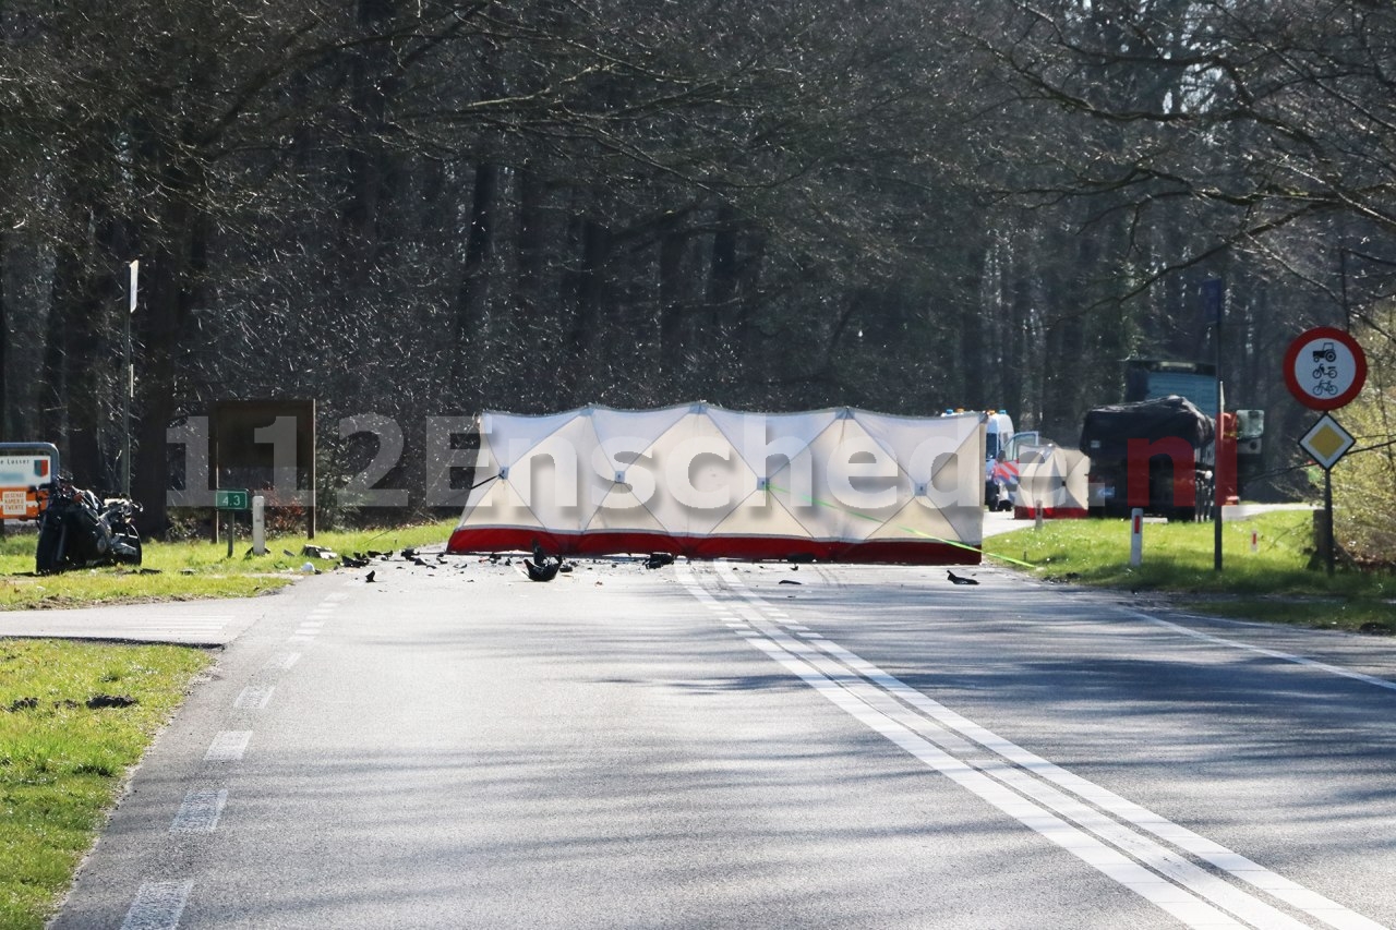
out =
{"type": "Polygon", "coordinates": [[[1396,644],[962,574],[222,602],[53,926],[1396,926],[1396,644]]]}

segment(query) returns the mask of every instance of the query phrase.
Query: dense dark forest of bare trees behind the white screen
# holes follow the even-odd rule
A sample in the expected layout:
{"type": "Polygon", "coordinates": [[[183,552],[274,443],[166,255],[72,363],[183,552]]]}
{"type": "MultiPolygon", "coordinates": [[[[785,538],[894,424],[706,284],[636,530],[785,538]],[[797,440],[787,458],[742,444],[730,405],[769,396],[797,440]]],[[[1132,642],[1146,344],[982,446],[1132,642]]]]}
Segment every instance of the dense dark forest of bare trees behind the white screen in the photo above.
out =
{"type": "MultiPolygon", "coordinates": [[[[135,496],[166,429],[1004,408],[1074,444],[1209,362],[1269,466],[1301,330],[1396,283],[1390,0],[0,0],[0,438],[135,496]]],[[[1362,437],[1364,441],[1374,437],[1362,437]]],[[[1379,438],[1379,437],[1378,437],[1379,438]]]]}

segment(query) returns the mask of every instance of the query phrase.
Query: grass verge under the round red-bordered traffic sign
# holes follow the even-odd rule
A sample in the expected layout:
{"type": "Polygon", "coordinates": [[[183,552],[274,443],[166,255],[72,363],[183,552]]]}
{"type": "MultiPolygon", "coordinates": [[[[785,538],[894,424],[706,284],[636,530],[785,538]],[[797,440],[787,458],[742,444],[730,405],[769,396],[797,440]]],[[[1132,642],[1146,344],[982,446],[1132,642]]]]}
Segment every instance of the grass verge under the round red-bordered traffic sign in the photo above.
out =
{"type": "Polygon", "coordinates": [[[1145,524],[1138,568],[1129,566],[1129,524],[1121,519],[1048,521],[1040,531],[993,536],[984,550],[1022,560],[1048,581],[1161,592],[1199,613],[1396,634],[1396,577],[1309,570],[1308,511],[1261,514],[1222,529],[1222,571],[1212,524],[1145,524]]]}

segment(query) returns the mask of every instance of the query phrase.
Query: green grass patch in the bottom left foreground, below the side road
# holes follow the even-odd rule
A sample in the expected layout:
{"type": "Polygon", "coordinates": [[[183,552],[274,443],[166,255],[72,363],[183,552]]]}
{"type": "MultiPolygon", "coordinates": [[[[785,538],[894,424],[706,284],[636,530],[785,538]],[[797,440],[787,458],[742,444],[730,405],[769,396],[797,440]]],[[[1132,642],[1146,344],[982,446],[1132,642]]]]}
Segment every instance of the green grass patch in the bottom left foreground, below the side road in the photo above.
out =
{"type": "Polygon", "coordinates": [[[0,929],[43,927],[208,662],[184,647],[0,640],[0,929]]]}

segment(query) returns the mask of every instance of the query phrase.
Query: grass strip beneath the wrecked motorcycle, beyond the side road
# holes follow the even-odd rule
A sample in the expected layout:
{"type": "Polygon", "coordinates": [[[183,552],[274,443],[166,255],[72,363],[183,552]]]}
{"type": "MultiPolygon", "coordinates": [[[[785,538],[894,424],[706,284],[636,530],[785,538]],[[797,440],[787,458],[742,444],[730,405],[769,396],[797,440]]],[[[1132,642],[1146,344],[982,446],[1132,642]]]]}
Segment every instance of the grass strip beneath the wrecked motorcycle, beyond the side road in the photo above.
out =
{"type": "MultiPolygon", "coordinates": [[[[314,543],[336,553],[443,543],[455,521],[394,529],[317,533],[314,543]]],[[[84,568],[60,575],[34,575],[34,533],[11,533],[0,540],[0,610],[82,607],[102,603],[246,598],[293,584],[310,561],[329,570],[334,560],[302,556],[303,536],[271,539],[265,556],[250,556],[250,542],[239,539],[233,557],[228,543],[148,542],[142,571],[128,567],[84,568]],[[289,554],[288,554],[289,553],[289,554]]]]}

